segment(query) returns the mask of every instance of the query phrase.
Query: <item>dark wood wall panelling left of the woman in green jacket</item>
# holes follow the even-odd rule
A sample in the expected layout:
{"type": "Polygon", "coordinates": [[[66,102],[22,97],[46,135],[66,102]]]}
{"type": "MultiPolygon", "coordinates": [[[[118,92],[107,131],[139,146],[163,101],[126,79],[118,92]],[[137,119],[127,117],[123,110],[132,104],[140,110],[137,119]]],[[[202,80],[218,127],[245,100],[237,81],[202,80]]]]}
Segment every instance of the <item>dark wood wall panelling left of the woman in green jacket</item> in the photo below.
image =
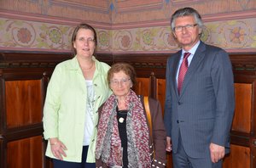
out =
{"type": "Polygon", "coordinates": [[[67,53],[0,53],[1,168],[47,167],[44,97],[55,65],[67,59],[67,53]]]}

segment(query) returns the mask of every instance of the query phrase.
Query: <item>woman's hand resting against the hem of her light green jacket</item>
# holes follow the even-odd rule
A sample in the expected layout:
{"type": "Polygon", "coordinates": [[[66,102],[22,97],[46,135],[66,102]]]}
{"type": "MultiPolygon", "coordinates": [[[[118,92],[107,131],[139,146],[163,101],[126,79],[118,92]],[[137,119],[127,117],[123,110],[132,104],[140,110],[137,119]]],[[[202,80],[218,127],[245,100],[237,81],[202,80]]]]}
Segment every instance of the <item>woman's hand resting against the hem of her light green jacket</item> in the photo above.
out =
{"type": "Polygon", "coordinates": [[[64,152],[67,150],[66,146],[57,137],[49,138],[49,143],[51,152],[57,159],[63,160],[62,156],[67,156],[64,152]]]}

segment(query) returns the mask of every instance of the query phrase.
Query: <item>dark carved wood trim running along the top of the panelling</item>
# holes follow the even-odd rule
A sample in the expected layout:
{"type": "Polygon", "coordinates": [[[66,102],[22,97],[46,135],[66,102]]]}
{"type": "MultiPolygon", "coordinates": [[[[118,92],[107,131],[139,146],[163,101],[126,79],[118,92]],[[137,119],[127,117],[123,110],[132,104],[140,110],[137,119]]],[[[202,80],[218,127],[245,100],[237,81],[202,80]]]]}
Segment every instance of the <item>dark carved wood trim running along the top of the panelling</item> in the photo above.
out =
{"type": "MultiPolygon", "coordinates": [[[[166,69],[170,53],[97,53],[96,59],[109,65],[126,62],[137,70],[166,69]]],[[[0,53],[0,69],[6,68],[54,68],[56,64],[72,59],[71,53],[0,53]]],[[[256,53],[230,53],[233,69],[236,71],[256,71],[256,53]]],[[[139,73],[140,74],[140,73],[139,73]]],[[[158,74],[155,74],[158,76],[158,74]]]]}

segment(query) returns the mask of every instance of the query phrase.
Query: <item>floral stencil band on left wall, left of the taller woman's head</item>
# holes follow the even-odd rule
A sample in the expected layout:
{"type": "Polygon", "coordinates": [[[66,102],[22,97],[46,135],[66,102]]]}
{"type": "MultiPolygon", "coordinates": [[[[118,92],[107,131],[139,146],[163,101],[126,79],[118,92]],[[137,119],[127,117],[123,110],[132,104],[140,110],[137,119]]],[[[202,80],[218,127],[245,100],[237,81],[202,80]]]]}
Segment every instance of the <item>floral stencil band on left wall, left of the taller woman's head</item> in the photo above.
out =
{"type": "Polygon", "coordinates": [[[21,20],[0,20],[1,48],[70,49],[73,27],[21,20]]]}

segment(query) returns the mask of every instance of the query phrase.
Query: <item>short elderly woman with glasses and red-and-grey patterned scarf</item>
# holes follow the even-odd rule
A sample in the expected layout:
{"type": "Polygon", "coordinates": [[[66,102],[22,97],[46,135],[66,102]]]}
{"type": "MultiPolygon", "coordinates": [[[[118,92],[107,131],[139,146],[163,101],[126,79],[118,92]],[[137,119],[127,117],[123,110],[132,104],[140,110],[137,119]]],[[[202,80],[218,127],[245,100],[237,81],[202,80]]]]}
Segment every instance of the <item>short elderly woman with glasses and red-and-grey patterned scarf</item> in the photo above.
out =
{"type": "Polygon", "coordinates": [[[149,98],[152,136],[143,96],[131,90],[136,72],[130,64],[108,70],[113,94],[98,110],[96,167],[165,167],[166,131],[159,101],[149,98]]]}

